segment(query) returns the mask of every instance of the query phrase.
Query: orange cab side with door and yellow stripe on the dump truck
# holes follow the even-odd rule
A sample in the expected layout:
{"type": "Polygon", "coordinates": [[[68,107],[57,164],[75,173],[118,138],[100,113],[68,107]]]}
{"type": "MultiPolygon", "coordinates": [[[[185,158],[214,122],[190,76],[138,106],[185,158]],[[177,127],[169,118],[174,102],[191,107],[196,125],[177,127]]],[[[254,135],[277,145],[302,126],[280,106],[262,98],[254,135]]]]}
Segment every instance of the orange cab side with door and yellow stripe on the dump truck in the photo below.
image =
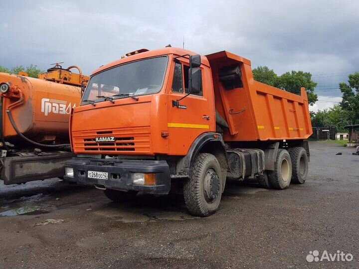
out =
{"type": "Polygon", "coordinates": [[[202,90],[179,101],[180,108],[172,101],[188,94],[188,62],[176,60],[173,64],[173,79],[170,79],[168,95],[169,154],[185,155],[194,139],[205,132],[215,131],[213,87],[210,70],[201,66],[202,90]]]}

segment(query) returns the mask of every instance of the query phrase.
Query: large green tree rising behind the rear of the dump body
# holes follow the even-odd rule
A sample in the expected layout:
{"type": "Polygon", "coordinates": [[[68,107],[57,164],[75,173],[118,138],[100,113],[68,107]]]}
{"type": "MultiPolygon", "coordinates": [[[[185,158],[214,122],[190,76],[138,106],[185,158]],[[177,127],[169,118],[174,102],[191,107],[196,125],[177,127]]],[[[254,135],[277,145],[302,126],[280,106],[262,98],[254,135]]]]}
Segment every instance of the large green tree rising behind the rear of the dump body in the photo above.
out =
{"type": "Polygon", "coordinates": [[[314,93],[317,83],[312,80],[312,74],[303,71],[286,72],[276,79],[275,87],[291,93],[300,94],[300,88],[306,88],[308,101],[311,106],[318,101],[318,95],[314,93]]]}

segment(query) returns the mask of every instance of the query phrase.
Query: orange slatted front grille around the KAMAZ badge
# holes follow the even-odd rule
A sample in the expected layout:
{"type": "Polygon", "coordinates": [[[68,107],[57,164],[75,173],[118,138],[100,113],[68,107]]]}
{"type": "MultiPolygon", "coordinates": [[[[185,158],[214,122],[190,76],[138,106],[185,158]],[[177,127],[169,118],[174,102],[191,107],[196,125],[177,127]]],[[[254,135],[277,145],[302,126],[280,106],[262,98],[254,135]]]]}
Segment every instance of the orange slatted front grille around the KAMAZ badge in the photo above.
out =
{"type": "Polygon", "coordinates": [[[73,132],[73,145],[76,153],[150,153],[149,128],[114,129],[112,131],[73,132]],[[115,141],[96,142],[96,136],[115,136],[115,141]]]}

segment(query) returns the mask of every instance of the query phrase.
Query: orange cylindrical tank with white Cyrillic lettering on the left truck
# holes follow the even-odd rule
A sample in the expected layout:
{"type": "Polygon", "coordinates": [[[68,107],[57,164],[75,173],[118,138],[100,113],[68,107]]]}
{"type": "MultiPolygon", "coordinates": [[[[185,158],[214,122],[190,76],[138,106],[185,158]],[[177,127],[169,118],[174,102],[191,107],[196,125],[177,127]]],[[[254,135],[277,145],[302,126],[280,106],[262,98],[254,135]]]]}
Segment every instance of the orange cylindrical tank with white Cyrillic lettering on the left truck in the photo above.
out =
{"type": "Polygon", "coordinates": [[[10,111],[18,131],[36,142],[69,140],[69,114],[80,102],[80,87],[55,82],[54,79],[0,73],[0,91],[3,103],[0,113],[6,141],[14,144],[21,141],[7,111],[10,111]]]}

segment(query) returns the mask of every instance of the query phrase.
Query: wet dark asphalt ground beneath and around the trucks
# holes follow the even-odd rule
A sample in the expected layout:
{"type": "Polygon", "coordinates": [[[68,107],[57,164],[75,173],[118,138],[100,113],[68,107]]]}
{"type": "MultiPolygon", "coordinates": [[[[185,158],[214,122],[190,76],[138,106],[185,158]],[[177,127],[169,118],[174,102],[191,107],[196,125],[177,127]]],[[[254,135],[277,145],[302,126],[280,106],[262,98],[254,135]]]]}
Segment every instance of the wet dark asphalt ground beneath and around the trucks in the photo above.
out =
{"type": "Polygon", "coordinates": [[[29,212],[0,216],[0,268],[359,268],[359,156],[310,147],[305,184],[228,183],[207,218],[174,195],[116,205],[57,179],[0,185],[0,215],[29,212]],[[307,262],[315,250],[353,261],[307,262]]]}

